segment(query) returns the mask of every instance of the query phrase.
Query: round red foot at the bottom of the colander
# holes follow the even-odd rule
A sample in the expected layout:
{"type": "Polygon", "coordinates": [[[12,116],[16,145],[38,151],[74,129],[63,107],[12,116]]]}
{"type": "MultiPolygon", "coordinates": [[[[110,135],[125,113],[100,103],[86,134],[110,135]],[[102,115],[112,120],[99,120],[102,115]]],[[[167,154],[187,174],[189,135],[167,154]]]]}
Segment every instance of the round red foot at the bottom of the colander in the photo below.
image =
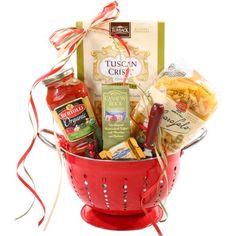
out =
{"type": "MultiPolygon", "coordinates": [[[[159,206],[152,208],[149,214],[153,217],[155,222],[161,220],[163,211],[159,206]]],[[[110,230],[135,230],[142,229],[150,225],[150,219],[147,215],[109,215],[98,212],[88,205],[84,205],[81,210],[81,216],[87,223],[110,230]]]]}

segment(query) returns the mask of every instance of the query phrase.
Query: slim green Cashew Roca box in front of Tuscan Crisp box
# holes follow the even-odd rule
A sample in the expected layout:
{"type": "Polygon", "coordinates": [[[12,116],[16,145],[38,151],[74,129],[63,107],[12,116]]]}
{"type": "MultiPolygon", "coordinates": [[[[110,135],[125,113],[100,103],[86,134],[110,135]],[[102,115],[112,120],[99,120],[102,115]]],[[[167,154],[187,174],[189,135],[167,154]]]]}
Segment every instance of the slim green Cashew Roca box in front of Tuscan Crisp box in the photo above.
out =
{"type": "Polygon", "coordinates": [[[102,86],[103,149],[130,137],[129,87],[102,86]]]}

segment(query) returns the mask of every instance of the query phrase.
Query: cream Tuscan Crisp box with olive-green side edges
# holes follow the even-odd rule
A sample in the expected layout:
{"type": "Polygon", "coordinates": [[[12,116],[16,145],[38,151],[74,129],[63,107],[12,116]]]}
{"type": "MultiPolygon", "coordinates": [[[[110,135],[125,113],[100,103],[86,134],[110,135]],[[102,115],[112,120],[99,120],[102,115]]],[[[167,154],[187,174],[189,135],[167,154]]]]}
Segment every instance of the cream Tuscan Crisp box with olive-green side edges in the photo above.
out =
{"type": "MultiPolygon", "coordinates": [[[[88,27],[89,22],[76,22],[77,28],[88,27]]],[[[131,52],[128,83],[136,81],[147,89],[164,68],[164,22],[111,22],[104,29],[114,32],[129,47],[131,52]]],[[[101,124],[101,85],[121,83],[128,67],[129,57],[109,32],[88,33],[77,50],[78,78],[89,89],[92,105],[101,124]]],[[[132,88],[132,87],[131,87],[132,88]]],[[[139,101],[135,88],[130,89],[130,108],[139,101]]]]}

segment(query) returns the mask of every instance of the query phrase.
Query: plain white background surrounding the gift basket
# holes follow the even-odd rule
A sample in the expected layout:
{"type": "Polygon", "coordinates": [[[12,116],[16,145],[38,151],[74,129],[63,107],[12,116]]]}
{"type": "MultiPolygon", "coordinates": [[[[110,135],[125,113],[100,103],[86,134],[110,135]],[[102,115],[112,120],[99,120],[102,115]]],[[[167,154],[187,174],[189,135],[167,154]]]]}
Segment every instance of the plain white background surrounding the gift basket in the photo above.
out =
{"type": "MultiPolygon", "coordinates": [[[[24,219],[31,195],[15,175],[16,163],[30,142],[28,93],[34,80],[57,61],[48,37],[54,30],[90,20],[107,3],[92,0],[8,0],[0,3],[1,40],[1,194],[0,235],[37,235],[41,209],[35,204],[24,219]]],[[[219,107],[207,123],[208,136],[185,152],[176,187],[167,201],[169,219],[159,224],[166,236],[236,235],[235,55],[234,1],[119,1],[120,19],[166,22],[166,65],[184,58],[201,72],[219,94],[219,107]]],[[[74,65],[72,60],[71,65],[74,65]]],[[[45,90],[35,91],[41,127],[51,127],[45,90]]],[[[37,143],[27,166],[37,190],[50,208],[57,187],[57,155],[37,143]]],[[[62,193],[46,235],[155,235],[152,227],[117,232],[81,220],[82,202],[64,173],[62,193]]]]}

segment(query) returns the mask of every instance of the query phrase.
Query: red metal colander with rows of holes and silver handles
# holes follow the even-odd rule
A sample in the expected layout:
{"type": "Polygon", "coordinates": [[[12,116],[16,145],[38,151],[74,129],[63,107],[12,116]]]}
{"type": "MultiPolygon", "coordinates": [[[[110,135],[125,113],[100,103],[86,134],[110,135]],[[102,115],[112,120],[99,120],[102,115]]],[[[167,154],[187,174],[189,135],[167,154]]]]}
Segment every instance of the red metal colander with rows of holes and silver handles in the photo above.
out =
{"type": "MultiPolygon", "coordinates": [[[[40,139],[55,148],[42,132],[40,139]]],[[[202,140],[206,130],[184,149],[202,140]]],[[[81,210],[82,218],[89,224],[112,230],[133,230],[149,226],[150,216],[154,222],[163,217],[160,200],[170,194],[180,169],[182,149],[168,156],[166,169],[167,178],[162,174],[162,168],[157,158],[129,161],[99,160],[74,156],[64,153],[67,174],[74,191],[85,203],[81,210]],[[168,183],[167,183],[168,180],[168,183]],[[141,205],[144,192],[148,191],[158,181],[141,205]],[[149,214],[145,214],[143,208],[149,214]]]]}

